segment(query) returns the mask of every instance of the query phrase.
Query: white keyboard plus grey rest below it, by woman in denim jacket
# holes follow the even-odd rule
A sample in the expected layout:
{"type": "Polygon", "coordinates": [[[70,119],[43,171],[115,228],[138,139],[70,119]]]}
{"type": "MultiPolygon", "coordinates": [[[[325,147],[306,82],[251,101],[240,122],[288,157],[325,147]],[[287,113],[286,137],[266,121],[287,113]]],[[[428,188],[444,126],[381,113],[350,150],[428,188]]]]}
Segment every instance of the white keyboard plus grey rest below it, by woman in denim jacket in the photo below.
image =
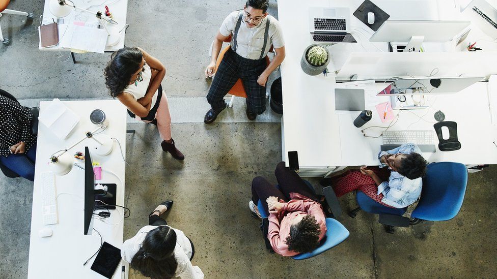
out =
{"type": "Polygon", "coordinates": [[[435,135],[430,130],[418,131],[386,131],[383,132],[381,151],[388,151],[404,143],[418,145],[422,152],[435,152],[435,135]]]}

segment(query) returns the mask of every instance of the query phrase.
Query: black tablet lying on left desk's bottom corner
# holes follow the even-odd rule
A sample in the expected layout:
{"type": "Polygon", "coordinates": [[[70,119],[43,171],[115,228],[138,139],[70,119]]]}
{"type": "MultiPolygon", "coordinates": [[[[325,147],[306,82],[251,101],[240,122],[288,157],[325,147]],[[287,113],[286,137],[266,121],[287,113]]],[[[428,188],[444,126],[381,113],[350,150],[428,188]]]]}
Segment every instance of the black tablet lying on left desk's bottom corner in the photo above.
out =
{"type": "Polygon", "coordinates": [[[107,242],[103,242],[91,269],[107,278],[112,278],[120,262],[121,250],[107,242]]]}

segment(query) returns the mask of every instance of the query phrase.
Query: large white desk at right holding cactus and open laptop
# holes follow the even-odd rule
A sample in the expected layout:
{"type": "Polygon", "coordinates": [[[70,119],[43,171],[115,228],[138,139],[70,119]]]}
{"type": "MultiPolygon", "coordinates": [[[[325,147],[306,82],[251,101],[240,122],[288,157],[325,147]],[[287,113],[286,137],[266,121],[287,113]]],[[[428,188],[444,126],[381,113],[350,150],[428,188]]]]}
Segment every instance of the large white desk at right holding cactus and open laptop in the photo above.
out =
{"type": "MultiPolygon", "coordinates": [[[[306,5],[309,7],[349,7],[352,13],[361,3],[361,0],[316,0],[303,3],[288,0],[278,3],[279,21],[283,29],[287,53],[281,66],[285,108],[282,117],[283,160],[288,164],[287,151],[298,151],[301,176],[322,176],[340,167],[379,164],[376,155],[381,145],[381,138],[370,139],[362,136],[360,129],[356,129],[351,123],[358,113],[337,114],[335,112],[334,75],[309,76],[300,69],[302,52],[312,43],[309,36],[309,13],[306,5]]],[[[426,13],[418,14],[412,13],[411,9],[403,10],[403,3],[404,1],[398,0],[375,1],[375,4],[391,14],[391,19],[416,19],[413,15],[424,20],[446,18],[438,12],[432,12],[431,5],[421,7],[426,10],[426,13]],[[388,6],[385,6],[386,4],[388,6]]],[[[412,3],[413,1],[410,1],[410,4],[412,3]]],[[[447,3],[452,3],[454,6],[454,2],[446,0],[433,1],[433,3],[435,3],[435,8],[447,3]]],[[[443,10],[443,7],[438,7],[438,10],[443,10]]],[[[363,24],[353,15],[351,15],[351,22],[352,25],[363,24]]],[[[363,24],[363,28],[368,27],[363,24]]],[[[356,39],[363,40],[365,48],[374,51],[375,48],[369,41],[365,41],[366,39],[362,36],[358,37],[356,39]]],[[[380,48],[383,46],[386,50],[386,43],[377,44],[377,46],[380,48]]],[[[363,48],[360,44],[355,44],[353,47],[363,48]]],[[[438,75],[443,76],[443,73],[438,75]]],[[[480,82],[458,94],[436,97],[433,107],[442,110],[446,114],[446,120],[458,122],[458,135],[462,148],[451,152],[437,150],[436,153],[424,153],[423,156],[427,160],[430,162],[461,162],[466,165],[497,164],[497,148],[491,146],[492,141],[497,140],[497,130],[495,126],[490,125],[486,86],[487,83],[480,82]]],[[[386,97],[381,98],[378,103],[389,101],[386,97]]],[[[426,110],[415,113],[423,115],[426,110]]],[[[431,109],[424,119],[431,121],[433,113],[431,109]]],[[[375,110],[373,110],[373,115],[376,120],[373,118],[364,128],[379,122],[375,110]]],[[[405,130],[410,123],[419,119],[410,112],[402,112],[400,117],[399,122],[394,126],[395,129],[392,130],[405,130]]],[[[433,123],[421,120],[409,128],[409,130],[418,129],[432,130],[433,123]]],[[[370,130],[373,129],[368,131],[370,130]]]]}

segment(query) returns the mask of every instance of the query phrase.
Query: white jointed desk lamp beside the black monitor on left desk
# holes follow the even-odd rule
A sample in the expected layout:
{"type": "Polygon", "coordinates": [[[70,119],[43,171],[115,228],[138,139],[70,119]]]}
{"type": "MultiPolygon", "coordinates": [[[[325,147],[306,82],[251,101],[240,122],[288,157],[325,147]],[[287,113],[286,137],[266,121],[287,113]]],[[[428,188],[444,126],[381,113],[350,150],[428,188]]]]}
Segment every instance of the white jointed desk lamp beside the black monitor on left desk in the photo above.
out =
{"type": "Polygon", "coordinates": [[[78,145],[80,142],[84,141],[87,138],[88,139],[91,138],[97,143],[94,147],[92,147],[92,149],[95,151],[96,154],[100,156],[106,156],[112,152],[112,149],[114,147],[114,142],[112,141],[112,138],[109,137],[108,135],[96,135],[104,131],[108,127],[108,120],[105,119],[105,113],[99,109],[96,109],[91,113],[90,119],[93,123],[99,125],[98,128],[95,129],[95,131],[93,132],[88,131],[85,134],[84,138],[80,139],[78,142],[71,145],[71,147],[59,150],[53,153],[52,156],[50,157],[50,168],[52,172],[55,173],[56,175],[66,175],[72,170],[72,166],[75,165],[74,159],[72,156],[70,156],[69,153],[67,153],[67,151],[72,149],[74,146],[78,145]]]}

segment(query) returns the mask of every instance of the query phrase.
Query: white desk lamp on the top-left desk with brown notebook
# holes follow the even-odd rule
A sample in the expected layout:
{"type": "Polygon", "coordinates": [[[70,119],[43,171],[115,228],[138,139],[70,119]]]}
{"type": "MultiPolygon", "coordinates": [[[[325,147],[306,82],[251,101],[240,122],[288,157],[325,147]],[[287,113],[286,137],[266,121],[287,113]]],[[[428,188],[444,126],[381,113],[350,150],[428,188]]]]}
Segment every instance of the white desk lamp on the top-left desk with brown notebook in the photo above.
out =
{"type": "Polygon", "coordinates": [[[105,32],[107,32],[108,38],[106,46],[115,46],[117,45],[117,43],[119,43],[119,41],[121,40],[121,33],[119,32],[119,30],[115,27],[108,28],[104,21],[111,24],[117,24],[117,22],[112,18],[105,16],[104,14],[102,14],[102,12],[92,12],[87,9],[76,7],[76,5],[74,5],[74,3],[70,0],[50,0],[50,3],[48,4],[50,13],[52,13],[52,15],[56,17],[68,16],[73,8],[95,15],[95,17],[100,22],[100,25],[102,25],[105,28],[105,32]]]}

